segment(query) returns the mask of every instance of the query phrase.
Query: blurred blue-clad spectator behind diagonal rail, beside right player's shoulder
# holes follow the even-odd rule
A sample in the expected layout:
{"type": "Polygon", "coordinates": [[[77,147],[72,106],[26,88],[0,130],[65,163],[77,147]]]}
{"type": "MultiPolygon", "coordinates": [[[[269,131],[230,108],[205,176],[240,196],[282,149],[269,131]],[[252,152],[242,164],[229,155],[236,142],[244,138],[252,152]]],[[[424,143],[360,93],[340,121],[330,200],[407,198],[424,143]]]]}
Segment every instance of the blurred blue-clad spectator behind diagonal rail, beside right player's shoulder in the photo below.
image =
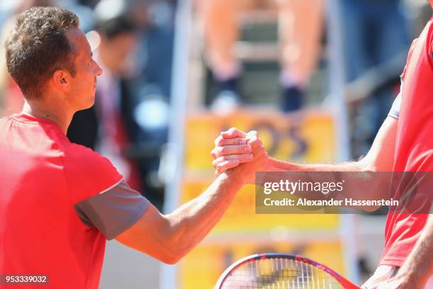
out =
{"type": "MultiPolygon", "coordinates": [[[[354,119],[354,157],[366,154],[381,123],[386,118],[398,76],[409,50],[409,24],[400,0],[340,0],[344,33],[346,81],[362,77],[367,70],[400,59],[386,85],[372,89],[374,93],[359,103],[354,119]]],[[[398,89],[398,87],[397,87],[398,89]]]]}

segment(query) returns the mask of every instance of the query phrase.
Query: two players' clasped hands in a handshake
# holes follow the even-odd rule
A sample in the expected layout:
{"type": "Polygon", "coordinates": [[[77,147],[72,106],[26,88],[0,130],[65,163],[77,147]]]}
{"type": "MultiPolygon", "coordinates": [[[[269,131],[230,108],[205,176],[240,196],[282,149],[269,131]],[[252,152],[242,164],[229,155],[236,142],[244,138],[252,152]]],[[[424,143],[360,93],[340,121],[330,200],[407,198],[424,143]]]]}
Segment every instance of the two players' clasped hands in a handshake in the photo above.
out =
{"type": "Polygon", "coordinates": [[[248,133],[237,128],[221,132],[215,140],[211,156],[215,174],[236,174],[241,183],[254,183],[256,171],[266,171],[268,156],[258,132],[248,133]]]}

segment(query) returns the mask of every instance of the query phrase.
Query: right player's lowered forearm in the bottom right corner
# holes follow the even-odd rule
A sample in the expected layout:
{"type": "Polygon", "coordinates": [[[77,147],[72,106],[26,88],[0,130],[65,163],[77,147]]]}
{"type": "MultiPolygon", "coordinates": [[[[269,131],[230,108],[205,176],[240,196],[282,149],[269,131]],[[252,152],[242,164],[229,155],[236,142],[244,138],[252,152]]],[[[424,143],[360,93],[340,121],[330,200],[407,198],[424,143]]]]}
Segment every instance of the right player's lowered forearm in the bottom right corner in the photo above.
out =
{"type": "MultiPolygon", "coordinates": [[[[427,224],[420,239],[410,252],[398,275],[406,275],[410,280],[419,284],[417,288],[424,288],[425,283],[433,274],[433,217],[429,215],[427,224]]],[[[415,287],[414,287],[415,288],[415,287]]]]}

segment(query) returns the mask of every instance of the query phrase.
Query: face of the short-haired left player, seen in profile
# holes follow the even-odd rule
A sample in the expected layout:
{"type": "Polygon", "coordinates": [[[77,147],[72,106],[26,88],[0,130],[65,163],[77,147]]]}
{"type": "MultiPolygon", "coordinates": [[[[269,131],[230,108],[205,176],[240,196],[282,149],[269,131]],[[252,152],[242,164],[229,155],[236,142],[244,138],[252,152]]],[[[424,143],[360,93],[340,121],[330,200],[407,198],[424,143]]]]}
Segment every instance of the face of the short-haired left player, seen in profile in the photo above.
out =
{"type": "Polygon", "coordinates": [[[96,78],[102,74],[102,69],[93,60],[91,46],[79,28],[68,30],[66,35],[76,51],[76,74],[70,79],[67,101],[76,111],[80,111],[95,103],[96,78]]]}

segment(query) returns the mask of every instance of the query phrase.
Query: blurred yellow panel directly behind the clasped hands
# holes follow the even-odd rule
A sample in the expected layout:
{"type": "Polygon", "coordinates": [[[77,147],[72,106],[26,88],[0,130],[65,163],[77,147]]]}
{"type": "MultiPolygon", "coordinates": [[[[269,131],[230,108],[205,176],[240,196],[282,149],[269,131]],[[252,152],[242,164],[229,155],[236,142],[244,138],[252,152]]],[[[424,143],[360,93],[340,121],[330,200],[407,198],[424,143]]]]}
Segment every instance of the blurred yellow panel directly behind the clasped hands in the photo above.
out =
{"type": "Polygon", "coordinates": [[[308,111],[287,116],[275,111],[238,111],[233,115],[189,115],[186,123],[185,169],[212,173],[210,152],[223,130],[257,130],[267,152],[277,159],[331,162],[335,159],[334,123],[330,113],[308,111]]]}

